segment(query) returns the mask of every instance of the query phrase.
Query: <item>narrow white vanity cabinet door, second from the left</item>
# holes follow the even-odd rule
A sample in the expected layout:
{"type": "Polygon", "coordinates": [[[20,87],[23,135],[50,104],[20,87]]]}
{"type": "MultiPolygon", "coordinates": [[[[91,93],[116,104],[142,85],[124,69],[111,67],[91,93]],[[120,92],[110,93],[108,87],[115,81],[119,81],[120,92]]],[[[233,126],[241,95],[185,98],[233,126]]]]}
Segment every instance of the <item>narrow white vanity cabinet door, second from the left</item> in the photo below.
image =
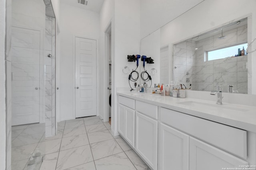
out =
{"type": "Polygon", "coordinates": [[[135,143],[135,111],[125,107],[125,139],[134,147],[135,143]]]}

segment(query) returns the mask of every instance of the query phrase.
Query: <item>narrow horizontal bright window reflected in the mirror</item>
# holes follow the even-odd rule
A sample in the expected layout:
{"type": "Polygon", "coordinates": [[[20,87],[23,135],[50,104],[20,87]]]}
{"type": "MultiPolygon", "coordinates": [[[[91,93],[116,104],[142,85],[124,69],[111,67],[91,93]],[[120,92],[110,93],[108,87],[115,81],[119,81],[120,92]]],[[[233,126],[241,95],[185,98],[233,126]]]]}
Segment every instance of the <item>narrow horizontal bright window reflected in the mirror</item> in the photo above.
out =
{"type": "Polygon", "coordinates": [[[224,59],[226,57],[232,57],[238,55],[238,49],[244,50],[247,48],[247,43],[235,45],[232,47],[225,47],[222,49],[206,51],[206,61],[217,60],[217,59],[224,59]]]}

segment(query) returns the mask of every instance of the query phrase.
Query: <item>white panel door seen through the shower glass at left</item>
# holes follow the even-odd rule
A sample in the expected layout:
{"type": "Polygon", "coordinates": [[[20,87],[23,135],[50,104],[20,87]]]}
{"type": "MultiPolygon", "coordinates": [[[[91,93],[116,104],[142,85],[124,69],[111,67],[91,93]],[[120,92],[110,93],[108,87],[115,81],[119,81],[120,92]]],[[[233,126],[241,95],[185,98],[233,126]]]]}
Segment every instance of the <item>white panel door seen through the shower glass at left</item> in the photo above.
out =
{"type": "Polygon", "coordinates": [[[12,27],[12,125],[39,122],[40,31],[12,27]]]}

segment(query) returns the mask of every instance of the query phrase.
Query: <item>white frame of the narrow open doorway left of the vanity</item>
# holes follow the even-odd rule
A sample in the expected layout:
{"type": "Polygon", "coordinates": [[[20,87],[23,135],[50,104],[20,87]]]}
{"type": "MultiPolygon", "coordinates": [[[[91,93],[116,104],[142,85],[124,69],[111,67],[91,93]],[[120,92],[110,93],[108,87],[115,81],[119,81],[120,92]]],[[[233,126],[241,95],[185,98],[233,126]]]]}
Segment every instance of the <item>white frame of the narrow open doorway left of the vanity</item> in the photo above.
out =
{"type": "MultiPolygon", "coordinates": [[[[109,60],[109,33],[111,31],[111,35],[112,35],[112,20],[110,20],[110,22],[108,23],[108,26],[106,27],[105,31],[104,31],[104,72],[105,72],[105,75],[104,75],[104,87],[103,87],[103,94],[104,95],[104,98],[105,98],[105,102],[103,103],[103,121],[104,122],[108,122],[109,121],[109,108],[108,108],[108,101],[109,100],[109,90],[108,90],[108,76],[109,76],[109,63],[108,63],[108,60],[109,60]]],[[[111,44],[112,44],[112,37],[111,37],[111,44]]],[[[111,45],[111,61],[112,61],[112,45],[111,45]]],[[[112,67],[112,66],[111,66],[112,67]]],[[[111,68],[112,69],[112,68],[111,68]]],[[[111,72],[111,79],[113,79],[113,72],[111,72]]],[[[112,82],[112,80],[111,80],[112,82]]],[[[113,87],[113,86],[112,86],[113,87]]],[[[113,92],[113,89],[111,87],[111,94],[113,92]]],[[[111,103],[112,103],[112,98],[111,98],[111,103]]],[[[112,117],[112,107],[111,107],[111,117],[112,117]]]]}

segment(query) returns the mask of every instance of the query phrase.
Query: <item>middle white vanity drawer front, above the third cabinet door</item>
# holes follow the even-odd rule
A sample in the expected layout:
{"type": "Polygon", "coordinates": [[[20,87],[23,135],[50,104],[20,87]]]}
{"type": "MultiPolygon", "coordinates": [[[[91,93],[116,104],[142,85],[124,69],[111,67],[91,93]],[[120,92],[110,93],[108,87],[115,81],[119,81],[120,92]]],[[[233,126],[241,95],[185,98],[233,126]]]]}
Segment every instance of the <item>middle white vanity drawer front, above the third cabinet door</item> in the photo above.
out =
{"type": "Polygon", "coordinates": [[[136,100],[136,111],[158,119],[158,106],[136,100]]]}

